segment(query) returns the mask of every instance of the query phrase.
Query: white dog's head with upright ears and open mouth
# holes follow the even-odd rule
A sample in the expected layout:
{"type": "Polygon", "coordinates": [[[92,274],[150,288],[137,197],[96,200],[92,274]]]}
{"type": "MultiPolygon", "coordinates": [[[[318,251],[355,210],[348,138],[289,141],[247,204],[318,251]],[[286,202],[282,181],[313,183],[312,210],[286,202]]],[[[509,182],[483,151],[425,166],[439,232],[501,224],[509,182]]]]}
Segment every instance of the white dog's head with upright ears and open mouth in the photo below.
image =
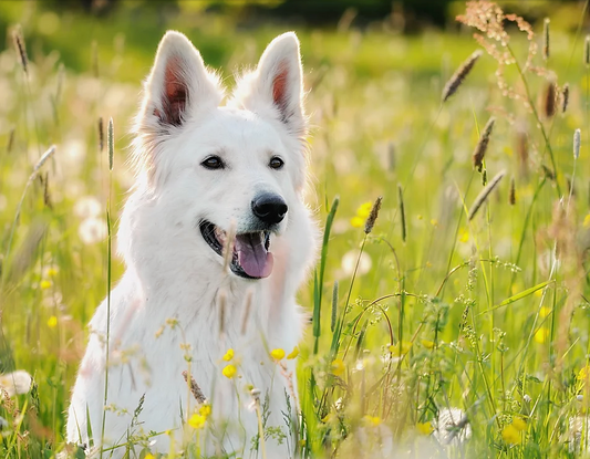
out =
{"type": "Polygon", "coordinates": [[[145,83],[135,152],[142,187],[174,228],[166,238],[222,263],[231,229],[231,271],[270,275],[272,240],[302,206],[302,97],[294,33],[268,45],[225,106],[218,77],[190,41],[178,32],[164,35],[145,83]]]}

